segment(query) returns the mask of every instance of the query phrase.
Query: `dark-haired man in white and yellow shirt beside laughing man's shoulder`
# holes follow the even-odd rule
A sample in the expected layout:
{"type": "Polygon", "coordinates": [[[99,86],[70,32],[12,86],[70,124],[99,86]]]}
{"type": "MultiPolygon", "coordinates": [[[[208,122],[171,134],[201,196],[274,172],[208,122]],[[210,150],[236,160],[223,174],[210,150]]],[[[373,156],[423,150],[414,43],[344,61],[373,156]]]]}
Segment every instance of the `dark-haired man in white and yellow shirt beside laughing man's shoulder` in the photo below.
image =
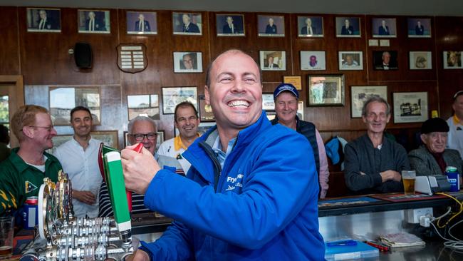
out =
{"type": "Polygon", "coordinates": [[[157,155],[176,158],[186,175],[191,164],[182,157],[182,153],[199,137],[198,112],[192,103],[184,101],[175,106],[174,118],[175,128],[179,130],[180,135],[163,142],[157,150],[157,155]]]}

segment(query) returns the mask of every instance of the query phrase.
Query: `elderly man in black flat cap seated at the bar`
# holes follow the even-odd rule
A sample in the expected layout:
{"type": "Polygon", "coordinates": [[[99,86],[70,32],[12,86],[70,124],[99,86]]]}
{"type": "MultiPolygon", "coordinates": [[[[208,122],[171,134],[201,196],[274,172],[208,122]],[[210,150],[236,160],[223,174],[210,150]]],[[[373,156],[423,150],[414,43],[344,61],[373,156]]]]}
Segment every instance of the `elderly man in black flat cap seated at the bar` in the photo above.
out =
{"type": "Polygon", "coordinates": [[[430,118],[421,126],[423,145],[408,153],[410,165],[417,175],[442,175],[447,166],[462,173],[463,160],[457,150],[446,149],[449,126],[442,118],[430,118]]]}

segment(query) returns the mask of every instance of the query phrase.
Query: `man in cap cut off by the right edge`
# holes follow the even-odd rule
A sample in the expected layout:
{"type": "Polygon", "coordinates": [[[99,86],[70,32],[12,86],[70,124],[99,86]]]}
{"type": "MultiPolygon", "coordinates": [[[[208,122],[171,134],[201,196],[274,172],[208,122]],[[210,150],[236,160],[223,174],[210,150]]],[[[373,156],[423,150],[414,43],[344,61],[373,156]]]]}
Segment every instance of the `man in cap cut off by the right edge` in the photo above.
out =
{"type": "Polygon", "coordinates": [[[463,158],[463,91],[454,94],[452,108],[455,113],[447,120],[449,124],[447,147],[458,150],[460,157],[463,158]]]}

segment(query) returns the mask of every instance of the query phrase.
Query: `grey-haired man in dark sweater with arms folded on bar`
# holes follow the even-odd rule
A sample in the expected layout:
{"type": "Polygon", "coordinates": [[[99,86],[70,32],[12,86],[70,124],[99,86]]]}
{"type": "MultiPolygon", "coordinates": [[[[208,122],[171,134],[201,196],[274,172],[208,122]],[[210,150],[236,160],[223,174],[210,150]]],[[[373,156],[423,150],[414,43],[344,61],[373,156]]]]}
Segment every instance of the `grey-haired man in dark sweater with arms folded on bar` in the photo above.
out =
{"type": "Polygon", "coordinates": [[[385,138],[390,106],[379,96],[363,104],[362,119],[367,133],[345,145],[344,178],[355,194],[403,191],[402,170],[410,170],[405,148],[385,138]]]}

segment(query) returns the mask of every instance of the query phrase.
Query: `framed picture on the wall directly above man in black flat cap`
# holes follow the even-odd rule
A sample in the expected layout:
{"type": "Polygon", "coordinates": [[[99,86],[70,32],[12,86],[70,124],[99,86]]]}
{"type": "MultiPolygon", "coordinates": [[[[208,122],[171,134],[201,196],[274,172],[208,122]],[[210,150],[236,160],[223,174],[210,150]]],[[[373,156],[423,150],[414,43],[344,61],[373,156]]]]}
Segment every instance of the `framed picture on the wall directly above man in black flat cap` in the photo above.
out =
{"type": "Polygon", "coordinates": [[[394,123],[422,123],[428,118],[427,91],[392,93],[394,123]]]}

